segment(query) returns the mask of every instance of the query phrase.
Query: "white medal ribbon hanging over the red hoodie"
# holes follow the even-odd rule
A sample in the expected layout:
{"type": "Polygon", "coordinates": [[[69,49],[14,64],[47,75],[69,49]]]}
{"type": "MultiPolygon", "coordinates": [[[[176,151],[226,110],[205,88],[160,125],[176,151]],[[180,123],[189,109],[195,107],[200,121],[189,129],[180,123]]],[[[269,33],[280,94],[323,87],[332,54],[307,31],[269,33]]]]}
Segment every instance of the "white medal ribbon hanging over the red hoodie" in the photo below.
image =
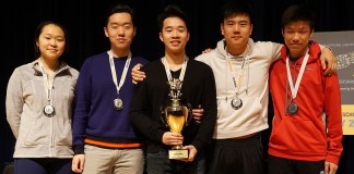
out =
{"type": "Polygon", "coordinates": [[[290,87],[291,87],[291,91],[292,91],[292,98],[295,99],[296,96],[297,96],[297,91],[298,91],[298,87],[299,87],[299,84],[302,82],[302,78],[303,78],[303,75],[304,75],[304,71],[305,71],[305,67],[306,67],[306,64],[307,64],[307,61],[308,61],[308,50],[306,51],[306,54],[305,54],[305,58],[303,60],[303,63],[302,63],[302,67],[299,70],[299,73],[298,73],[298,76],[296,78],[296,83],[295,83],[295,86],[294,86],[294,83],[293,83],[293,78],[292,78],[292,74],[291,74],[291,71],[290,71],[290,62],[288,62],[288,55],[286,58],[286,74],[287,74],[287,82],[290,83],[290,87]]]}

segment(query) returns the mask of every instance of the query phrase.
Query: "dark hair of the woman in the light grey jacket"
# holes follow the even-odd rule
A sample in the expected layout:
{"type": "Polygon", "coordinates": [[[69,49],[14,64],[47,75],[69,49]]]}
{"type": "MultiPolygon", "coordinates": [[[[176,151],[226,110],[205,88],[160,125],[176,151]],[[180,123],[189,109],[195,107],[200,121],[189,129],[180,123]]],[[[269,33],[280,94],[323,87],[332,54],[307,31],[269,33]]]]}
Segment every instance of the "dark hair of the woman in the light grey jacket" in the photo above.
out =
{"type": "MultiPolygon", "coordinates": [[[[66,27],[63,27],[61,24],[57,23],[57,22],[54,22],[54,21],[44,21],[42,22],[37,28],[36,28],[36,32],[35,32],[35,35],[34,35],[34,49],[35,49],[35,59],[39,58],[40,57],[40,51],[39,51],[39,48],[37,46],[37,41],[39,39],[39,35],[43,33],[43,28],[47,25],[56,25],[58,26],[64,34],[64,39],[66,39],[66,45],[64,45],[64,50],[63,50],[63,53],[62,55],[67,54],[69,52],[69,33],[68,30],[66,29],[66,27]]],[[[61,57],[62,57],[61,55],[61,57]]]]}

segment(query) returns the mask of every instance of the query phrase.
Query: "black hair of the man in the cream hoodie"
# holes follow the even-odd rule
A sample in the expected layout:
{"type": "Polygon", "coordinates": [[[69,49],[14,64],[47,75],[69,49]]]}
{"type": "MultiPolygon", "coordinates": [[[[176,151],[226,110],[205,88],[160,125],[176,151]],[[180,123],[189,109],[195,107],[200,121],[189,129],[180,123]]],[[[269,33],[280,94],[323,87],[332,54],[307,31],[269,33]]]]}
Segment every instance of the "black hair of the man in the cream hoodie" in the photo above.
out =
{"type": "Polygon", "coordinates": [[[255,11],[252,7],[246,1],[228,1],[226,2],[220,12],[220,21],[224,23],[224,20],[236,15],[247,15],[251,24],[253,24],[255,11]]]}

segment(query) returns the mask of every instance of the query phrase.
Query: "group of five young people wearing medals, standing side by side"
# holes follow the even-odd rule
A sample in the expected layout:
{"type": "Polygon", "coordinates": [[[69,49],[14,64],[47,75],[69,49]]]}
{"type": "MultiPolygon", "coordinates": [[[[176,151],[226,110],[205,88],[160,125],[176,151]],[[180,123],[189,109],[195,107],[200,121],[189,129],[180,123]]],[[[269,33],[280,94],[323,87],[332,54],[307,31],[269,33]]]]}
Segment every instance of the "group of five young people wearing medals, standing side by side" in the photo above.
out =
{"type": "Polygon", "coordinates": [[[133,10],[118,4],[104,27],[109,50],[86,59],[80,74],[59,61],[64,29],[42,25],[40,54],[17,67],[8,86],[15,173],[266,173],[260,133],[269,127],[269,86],[275,111],[269,173],[335,173],[340,89],[337,74],[323,71],[333,70],[335,58],[310,40],[311,12],[304,5],[284,12],[285,46],[250,38],[253,13],[247,3],[226,3],[221,14],[224,38],[191,59],[188,17],[167,7],[157,20],[165,52],[149,63],[130,51],[133,10]],[[144,64],[141,71],[138,64],[144,64]],[[193,110],[181,135],[161,120],[173,79],[182,82],[181,103],[193,110]],[[168,159],[176,145],[189,151],[187,159],[168,159]]]}

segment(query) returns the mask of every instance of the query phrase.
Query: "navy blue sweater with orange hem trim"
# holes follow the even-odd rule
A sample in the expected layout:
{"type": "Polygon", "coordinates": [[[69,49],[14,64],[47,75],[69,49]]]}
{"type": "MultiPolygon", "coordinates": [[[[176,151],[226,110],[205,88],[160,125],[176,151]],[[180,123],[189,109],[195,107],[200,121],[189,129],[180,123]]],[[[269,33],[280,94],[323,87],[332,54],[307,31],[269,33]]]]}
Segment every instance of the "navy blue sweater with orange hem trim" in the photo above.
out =
{"type": "MultiPolygon", "coordinates": [[[[115,58],[117,80],[119,83],[127,58],[115,58]]],[[[83,152],[85,138],[113,144],[139,142],[129,122],[130,102],[133,96],[131,69],[148,61],[133,57],[120,89],[125,108],[114,109],[117,89],[113,82],[109,58],[103,52],[87,58],[81,67],[75,90],[75,110],[73,115],[73,147],[75,153],[83,152]]]]}

